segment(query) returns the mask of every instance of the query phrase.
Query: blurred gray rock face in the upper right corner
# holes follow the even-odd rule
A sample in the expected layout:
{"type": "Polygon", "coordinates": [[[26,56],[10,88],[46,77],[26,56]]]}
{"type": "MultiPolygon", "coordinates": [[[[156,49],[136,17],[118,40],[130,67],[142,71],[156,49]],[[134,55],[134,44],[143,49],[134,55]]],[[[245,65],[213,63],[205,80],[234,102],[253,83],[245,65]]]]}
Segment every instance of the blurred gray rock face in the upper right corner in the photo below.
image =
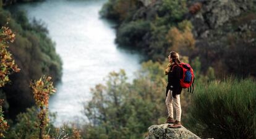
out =
{"type": "Polygon", "coordinates": [[[254,0],[190,0],[189,3],[202,3],[202,9],[190,20],[207,23],[211,29],[221,27],[233,17],[242,12],[252,10],[256,4],[254,0]]]}

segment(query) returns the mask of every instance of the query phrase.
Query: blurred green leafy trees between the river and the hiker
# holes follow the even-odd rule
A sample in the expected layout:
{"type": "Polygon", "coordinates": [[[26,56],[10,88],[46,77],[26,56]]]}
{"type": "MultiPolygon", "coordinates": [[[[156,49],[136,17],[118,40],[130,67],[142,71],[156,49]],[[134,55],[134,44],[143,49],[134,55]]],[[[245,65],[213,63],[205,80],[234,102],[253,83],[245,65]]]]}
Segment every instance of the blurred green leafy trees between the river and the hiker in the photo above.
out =
{"type": "MultiPolygon", "coordinates": [[[[85,104],[90,121],[83,128],[85,138],[141,138],[148,126],[162,123],[166,107],[166,80],[159,62],[145,62],[132,83],[124,70],[111,72],[105,84],[92,89],[85,104]]],[[[164,116],[165,117],[165,116],[164,116]]]]}

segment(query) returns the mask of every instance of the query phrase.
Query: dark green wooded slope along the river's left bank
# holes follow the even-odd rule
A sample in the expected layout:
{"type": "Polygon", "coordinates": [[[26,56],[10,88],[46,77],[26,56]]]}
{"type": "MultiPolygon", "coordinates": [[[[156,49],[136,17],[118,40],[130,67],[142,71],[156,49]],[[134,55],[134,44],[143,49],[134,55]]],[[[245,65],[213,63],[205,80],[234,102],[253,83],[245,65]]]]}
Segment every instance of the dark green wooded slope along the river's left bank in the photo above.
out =
{"type": "Polygon", "coordinates": [[[5,115],[15,119],[19,112],[34,105],[30,81],[43,74],[51,75],[54,82],[61,80],[62,62],[43,23],[36,20],[30,23],[24,12],[11,14],[0,7],[1,27],[7,22],[15,33],[10,51],[21,70],[9,77],[11,83],[0,89],[0,95],[6,99],[5,115]]]}

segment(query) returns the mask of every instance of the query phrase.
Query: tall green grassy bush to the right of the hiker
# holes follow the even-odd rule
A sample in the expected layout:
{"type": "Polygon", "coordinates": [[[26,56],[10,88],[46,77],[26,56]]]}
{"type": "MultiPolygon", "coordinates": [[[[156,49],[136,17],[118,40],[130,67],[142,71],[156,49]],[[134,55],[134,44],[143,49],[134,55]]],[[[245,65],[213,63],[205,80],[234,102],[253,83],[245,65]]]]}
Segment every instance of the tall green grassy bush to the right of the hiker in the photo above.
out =
{"type": "Polygon", "coordinates": [[[256,138],[256,82],[198,83],[190,111],[189,128],[203,137],[256,138]]]}

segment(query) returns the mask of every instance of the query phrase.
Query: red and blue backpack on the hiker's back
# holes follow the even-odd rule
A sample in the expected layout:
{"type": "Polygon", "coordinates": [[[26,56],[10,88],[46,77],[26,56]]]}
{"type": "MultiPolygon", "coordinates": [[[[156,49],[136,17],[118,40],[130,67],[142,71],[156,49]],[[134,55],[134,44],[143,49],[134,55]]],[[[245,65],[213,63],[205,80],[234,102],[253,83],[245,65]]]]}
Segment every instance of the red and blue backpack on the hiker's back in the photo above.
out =
{"type": "Polygon", "coordinates": [[[190,93],[194,92],[194,80],[195,75],[193,72],[192,67],[189,64],[181,63],[179,64],[179,67],[183,70],[182,78],[180,79],[181,87],[182,88],[188,88],[187,91],[190,89],[190,93]],[[192,86],[192,92],[191,92],[191,86],[192,86]]]}

